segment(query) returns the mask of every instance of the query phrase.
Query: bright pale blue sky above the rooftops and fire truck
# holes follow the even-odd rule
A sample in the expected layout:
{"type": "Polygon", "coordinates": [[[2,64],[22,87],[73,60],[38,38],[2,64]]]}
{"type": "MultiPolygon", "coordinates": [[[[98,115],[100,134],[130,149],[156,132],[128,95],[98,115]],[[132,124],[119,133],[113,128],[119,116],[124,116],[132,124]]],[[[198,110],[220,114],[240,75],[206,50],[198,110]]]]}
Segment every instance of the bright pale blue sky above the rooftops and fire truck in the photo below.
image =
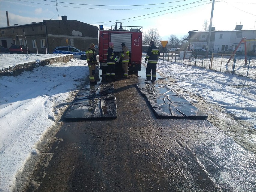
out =
{"type": "MultiPolygon", "coordinates": [[[[236,25],[254,29],[256,21],[255,0],[215,0],[212,24],[215,30],[233,30],[236,25]]],[[[123,26],[142,26],[144,32],[157,28],[162,40],[169,35],[178,38],[191,30],[203,30],[210,23],[211,0],[141,0],[141,1],[82,1],[82,0],[0,0],[0,27],[29,24],[32,21],[78,20],[91,25],[111,28],[115,22],[123,26]],[[82,5],[81,5],[82,4],[82,5]],[[58,10],[58,11],[57,11],[58,10]]]]}

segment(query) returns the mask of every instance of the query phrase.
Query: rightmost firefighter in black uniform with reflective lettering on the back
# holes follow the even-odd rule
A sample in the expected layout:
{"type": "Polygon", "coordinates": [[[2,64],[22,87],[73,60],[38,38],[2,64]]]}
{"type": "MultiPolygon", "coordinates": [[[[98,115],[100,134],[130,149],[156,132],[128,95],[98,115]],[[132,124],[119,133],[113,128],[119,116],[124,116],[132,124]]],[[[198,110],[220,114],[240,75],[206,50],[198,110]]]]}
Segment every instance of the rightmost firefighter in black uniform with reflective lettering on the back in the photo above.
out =
{"type": "Polygon", "coordinates": [[[150,41],[150,47],[145,58],[145,63],[148,60],[146,68],[147,79],[145,81],[151,81],[152,83],[156,80],[156,71],[157,71],[157,60],[159,59],[160,52],[159,49],[155,46],[154,41],[150,41]],[[152,79],[151,79],[151,70],[152,70],[152,79]]]}

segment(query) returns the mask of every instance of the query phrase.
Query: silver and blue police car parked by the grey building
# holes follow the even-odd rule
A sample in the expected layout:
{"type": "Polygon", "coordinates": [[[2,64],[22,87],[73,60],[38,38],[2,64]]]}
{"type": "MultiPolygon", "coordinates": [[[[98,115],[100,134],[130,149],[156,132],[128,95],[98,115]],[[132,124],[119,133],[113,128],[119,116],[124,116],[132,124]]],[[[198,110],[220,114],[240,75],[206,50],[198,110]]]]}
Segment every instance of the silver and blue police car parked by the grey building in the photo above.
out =
{"type": "Polygon", "coordinates": [[[73,54],[76,59],[86,59],[85,52],[72,46],[55,47],[53,54],[73,54]]]}

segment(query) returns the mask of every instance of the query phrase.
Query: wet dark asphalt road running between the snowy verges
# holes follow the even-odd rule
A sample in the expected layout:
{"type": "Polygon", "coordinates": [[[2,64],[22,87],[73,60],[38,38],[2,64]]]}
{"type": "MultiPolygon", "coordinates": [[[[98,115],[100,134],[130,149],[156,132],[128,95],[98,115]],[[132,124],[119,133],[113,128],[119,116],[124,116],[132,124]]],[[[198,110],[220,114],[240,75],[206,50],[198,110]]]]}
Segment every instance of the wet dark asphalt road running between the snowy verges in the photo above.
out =
{"type": "Polygon", "coordinates": [[[207,120],[157,119],[139,75],[114,82],[116,119],[64,122],[27,191],[256,191],[253,153],[207,120]]]}

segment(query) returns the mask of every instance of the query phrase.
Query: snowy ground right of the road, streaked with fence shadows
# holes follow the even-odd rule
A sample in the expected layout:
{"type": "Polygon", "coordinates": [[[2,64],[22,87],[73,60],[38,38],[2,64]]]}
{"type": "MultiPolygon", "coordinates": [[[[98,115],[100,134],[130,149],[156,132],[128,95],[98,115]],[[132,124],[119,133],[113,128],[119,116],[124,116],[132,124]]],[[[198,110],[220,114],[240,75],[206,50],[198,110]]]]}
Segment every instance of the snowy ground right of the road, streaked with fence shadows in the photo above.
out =
{"type": "Polygon", "coordinates": [[[158,72],[176,79],[179,87],[218,105],[256,129],[256,81],[179,63],[158,63],[158,72]]]}

